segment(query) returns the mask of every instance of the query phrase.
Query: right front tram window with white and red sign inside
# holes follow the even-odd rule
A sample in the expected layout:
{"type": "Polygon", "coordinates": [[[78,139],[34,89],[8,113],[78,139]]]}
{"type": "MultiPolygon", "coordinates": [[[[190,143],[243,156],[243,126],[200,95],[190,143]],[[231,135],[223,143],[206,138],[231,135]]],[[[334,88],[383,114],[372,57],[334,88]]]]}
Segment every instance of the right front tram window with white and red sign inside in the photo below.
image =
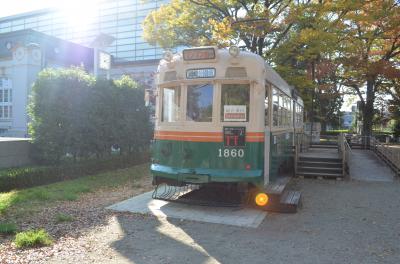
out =
{"type": "Polygon", "coordinates": [[[221,90],[221,120],[248,122],[250,105],[249,84],[223,84],[221,90]]]}

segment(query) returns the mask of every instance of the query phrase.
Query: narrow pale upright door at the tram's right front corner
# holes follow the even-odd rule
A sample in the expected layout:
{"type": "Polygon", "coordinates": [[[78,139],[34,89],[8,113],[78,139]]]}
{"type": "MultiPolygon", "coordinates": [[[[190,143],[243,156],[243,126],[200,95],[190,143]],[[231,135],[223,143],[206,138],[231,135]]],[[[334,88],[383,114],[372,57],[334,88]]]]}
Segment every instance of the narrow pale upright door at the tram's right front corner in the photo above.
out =
{"type": "Polygon", "coordinates": [[[269,96],[271,86],[265,83],[265,97],[264,97],[264,186],[269,183],[269,167],[270,167],[270,144],[271,144],[271,96],[269,96]]]}

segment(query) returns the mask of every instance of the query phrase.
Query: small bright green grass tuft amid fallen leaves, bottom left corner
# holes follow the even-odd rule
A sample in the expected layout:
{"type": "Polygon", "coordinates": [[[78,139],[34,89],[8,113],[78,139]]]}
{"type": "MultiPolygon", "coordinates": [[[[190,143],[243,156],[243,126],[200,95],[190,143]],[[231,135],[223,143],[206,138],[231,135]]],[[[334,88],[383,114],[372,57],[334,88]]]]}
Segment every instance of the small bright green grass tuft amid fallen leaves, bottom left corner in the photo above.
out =
{"type": "Polygon", "coordinates": [[[50,246],[53,239],[44,229],[38,229],[17,233],[14,242],[18,248],[26,248],[50,246]]]}

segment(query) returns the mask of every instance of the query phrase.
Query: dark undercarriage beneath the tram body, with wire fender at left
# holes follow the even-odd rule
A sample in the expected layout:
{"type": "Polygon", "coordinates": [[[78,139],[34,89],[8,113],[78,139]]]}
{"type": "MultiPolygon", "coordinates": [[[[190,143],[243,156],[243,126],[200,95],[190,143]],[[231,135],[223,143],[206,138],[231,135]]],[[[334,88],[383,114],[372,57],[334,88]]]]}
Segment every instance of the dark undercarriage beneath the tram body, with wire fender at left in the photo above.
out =
{"type": "Polygon", "coordinates": [[[295,213],[300,192],[287,190],[290,177],[279,178],[263,190],[249,183],[185,184],[169,179],[155,180],[153,199],[215,207],[250,207],[295,213]]]}

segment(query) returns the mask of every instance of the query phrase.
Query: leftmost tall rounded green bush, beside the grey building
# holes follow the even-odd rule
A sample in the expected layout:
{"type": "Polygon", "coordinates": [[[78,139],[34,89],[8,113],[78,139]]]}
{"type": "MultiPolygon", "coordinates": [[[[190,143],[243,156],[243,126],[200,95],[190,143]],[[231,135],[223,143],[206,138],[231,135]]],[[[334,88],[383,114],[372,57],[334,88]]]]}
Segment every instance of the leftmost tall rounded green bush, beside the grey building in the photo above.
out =
{"type": "Polygon", "coordinates": [[[88,90],[94,78],[83,70],[46,69],[32,88],[29,105],[29,133],[41,158],[59,162],[66,153],[77,157],[83,152],[82,125],[87,123],[88,90]]]}

